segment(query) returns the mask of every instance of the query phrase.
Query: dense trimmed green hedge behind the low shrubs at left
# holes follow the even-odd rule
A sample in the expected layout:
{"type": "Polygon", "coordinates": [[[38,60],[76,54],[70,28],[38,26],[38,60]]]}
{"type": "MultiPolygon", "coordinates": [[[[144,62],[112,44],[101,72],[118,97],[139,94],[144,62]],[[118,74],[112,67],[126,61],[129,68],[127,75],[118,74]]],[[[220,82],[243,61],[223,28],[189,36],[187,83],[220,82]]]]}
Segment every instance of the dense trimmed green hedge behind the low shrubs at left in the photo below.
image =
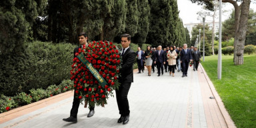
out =
{"type": "Polygon", "coordinates": [[[70,43],[25,43],[25,51],[0,56],[0,94],[13,96],[30,89],[47,89],[69,79],[73,59],[70,43]]]}

